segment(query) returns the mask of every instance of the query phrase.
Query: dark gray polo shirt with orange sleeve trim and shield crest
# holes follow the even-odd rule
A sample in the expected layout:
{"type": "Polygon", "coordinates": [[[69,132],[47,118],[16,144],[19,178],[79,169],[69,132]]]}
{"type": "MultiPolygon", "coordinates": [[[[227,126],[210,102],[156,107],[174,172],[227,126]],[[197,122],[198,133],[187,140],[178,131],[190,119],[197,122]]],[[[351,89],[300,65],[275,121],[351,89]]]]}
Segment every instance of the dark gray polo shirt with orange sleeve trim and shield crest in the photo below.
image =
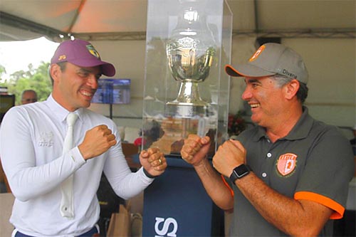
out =
{"type": "MultiPolygon", "coordinates": [[[[286,137],[272,143],[262,127],[254,127],[242,132],[239,140],[253,173],[272,189],[290,198],[317,201],[335,210],[332,218],[342,217],[355,164],[350,142],[337,127],[314,120],[303,107],[302,117],[286,137]]],[[[235,185],[233,189],[231,236],[286,236],[235,185]]],[[[328,221],[320,236],[332,234],[333,221],[328,221]]]]}

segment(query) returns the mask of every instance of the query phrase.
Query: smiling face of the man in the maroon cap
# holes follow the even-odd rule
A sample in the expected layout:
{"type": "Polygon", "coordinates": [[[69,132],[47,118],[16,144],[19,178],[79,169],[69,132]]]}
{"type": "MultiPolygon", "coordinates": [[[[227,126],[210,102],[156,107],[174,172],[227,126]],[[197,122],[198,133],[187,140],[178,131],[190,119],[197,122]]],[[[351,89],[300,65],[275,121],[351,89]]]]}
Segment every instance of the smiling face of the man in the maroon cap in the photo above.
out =
{"type": "Polygon", "coordinates": [[[80,107],[89,107],[90,101],[98,89],[101,76],[99,66],[81,68],[66,63],[64,70],[57,64],[51,65],[53,78],[53,98],[69,111],[80,107]]]}

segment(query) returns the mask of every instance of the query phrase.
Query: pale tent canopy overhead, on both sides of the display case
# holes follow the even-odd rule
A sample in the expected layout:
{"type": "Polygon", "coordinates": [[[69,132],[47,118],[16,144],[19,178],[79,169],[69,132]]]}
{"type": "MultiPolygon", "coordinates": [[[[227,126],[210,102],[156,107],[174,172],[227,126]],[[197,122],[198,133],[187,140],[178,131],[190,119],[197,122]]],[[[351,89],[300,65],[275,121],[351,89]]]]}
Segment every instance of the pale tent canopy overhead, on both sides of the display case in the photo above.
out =
{"type": "MultiPolygon", "coordinates": [[[[208,0],[214,1],[214,0],[208,0]]],[[[354,0],[226,0],[234,35],[355,38],[354,0]]],[[[145,38],[147,0],[2,0],[0,41],[145,38]]]]}

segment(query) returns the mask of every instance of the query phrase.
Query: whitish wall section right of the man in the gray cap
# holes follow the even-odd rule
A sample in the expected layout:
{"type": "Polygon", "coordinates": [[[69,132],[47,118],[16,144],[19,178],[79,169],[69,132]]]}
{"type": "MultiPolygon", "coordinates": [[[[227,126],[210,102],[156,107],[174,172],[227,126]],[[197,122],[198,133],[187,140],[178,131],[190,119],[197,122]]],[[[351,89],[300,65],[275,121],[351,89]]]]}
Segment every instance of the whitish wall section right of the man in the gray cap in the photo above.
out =
{"type": "Polygon", "coordinates": [[[310,89],[306,105],[318,120],[338,125],[355,125],[356,46],[355,39],[286,39],[309,71],[310,89]]]}

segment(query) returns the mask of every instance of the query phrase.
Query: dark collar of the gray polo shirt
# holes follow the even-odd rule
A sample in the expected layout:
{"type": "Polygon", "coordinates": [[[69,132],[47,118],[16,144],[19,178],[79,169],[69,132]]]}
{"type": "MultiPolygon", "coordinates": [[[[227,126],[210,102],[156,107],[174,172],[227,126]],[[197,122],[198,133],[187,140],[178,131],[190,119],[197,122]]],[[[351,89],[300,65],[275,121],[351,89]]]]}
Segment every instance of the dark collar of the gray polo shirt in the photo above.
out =
{"type": "MultiPolygon", "coordinates": [[[[313,118],[309,115],[308,107],[303,106],[302,116],[300,116],[298,122],[294,125],[293,129],[290,130],[288,135],[281,139],[297,140],[307,137],[311,130],[311,127],[313,126],[313,121],[313,118]]],[[[258,130],[256,134],[252,137],[252,139],[254,142],[258,142],[258,140],[262,137],[268,139],[264,127],[258,126],[258,130]]]]}

